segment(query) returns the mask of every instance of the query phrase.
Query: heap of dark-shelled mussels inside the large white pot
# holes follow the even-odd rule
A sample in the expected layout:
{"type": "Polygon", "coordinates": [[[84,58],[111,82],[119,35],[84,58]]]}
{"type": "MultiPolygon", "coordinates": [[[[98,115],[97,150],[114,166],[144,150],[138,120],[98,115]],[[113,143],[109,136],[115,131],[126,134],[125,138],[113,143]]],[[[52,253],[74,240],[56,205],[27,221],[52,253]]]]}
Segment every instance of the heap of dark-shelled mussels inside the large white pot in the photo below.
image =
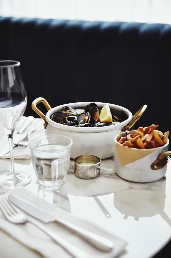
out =
{"type": "Polygon", "coordinates": [[[93,102],[85,109],[65,106],[62,111],[54,113],[51,119],[56,123],[77,127],[102,127],[120,123],[120,116],[116,112],[112,114],[112,123],[101,123],[100,110],[93,102]]]}

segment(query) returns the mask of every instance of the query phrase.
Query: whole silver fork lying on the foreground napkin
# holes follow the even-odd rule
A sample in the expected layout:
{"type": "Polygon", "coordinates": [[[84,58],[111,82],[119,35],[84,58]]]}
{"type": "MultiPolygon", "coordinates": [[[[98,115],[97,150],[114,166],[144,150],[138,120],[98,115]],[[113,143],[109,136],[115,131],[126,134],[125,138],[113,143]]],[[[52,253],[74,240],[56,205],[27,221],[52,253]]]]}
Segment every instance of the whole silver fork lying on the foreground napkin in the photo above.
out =
{"type": "Polygon", "coordinates": [[[91,255],[87,252],[83,251],[77,246],[69,243],[65,239],[59,237],[51,230],[47,229],[44,225],[32,219],[29,216],[26,216],[23,212],[20,211],[15,205],[13,205],[10,201],[5,197],[0,198],[0,208],[6,219],[14,224],[24,224],[26,222],[30,222],[42,229],[45,233],[47,233],[56,243],[58,243],[65,251],[71,254],[75,258],[90,258],[91,255]]]}

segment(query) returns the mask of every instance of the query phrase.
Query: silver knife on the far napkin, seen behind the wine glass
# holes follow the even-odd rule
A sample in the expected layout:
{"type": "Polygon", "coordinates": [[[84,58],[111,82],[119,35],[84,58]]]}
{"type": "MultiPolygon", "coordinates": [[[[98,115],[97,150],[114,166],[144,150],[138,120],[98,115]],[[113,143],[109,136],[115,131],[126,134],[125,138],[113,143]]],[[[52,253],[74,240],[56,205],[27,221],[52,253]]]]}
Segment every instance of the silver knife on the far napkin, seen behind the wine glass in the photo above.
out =
{"type": "MultiPolygon", "coordinates": [[[[22,132],[25,130],[25,128],[34,120],[33,116],[28,116],[24,122],[24,124],[22,125],[22,127],[18,130],[18,132],[13,136],[13,142],[14,143],[18,143],[20,142],[22,139],[24,139],[27,135],[26,134],[22,134],[22,132]]],[[[13,148],[14,148],[15,144],[13,144],[13,148]]],[[[1,150],[0,155],[5,155],[6,153],[9,152],[9,143],[7,143],[5,145],[5,147],[1,150]]]]}

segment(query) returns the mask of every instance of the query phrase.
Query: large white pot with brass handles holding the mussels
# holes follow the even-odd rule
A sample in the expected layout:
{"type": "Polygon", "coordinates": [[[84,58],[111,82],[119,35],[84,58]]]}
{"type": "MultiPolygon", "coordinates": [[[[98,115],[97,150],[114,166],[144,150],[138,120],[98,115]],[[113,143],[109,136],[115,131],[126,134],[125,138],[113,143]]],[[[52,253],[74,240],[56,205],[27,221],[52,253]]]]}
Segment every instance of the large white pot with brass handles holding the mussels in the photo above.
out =
{"type": "Polygon", "coordinates": [[[75,102],[60,105],[51,109],[49,103],[44,98],[37,98],[32,102],[33,110],[39,114],[44,120],[46,126],[46,134],[61,134],[70,137],[73,140],[73,145],[71,148],[71,158],[74,159],[80,155],[94,155],[100,159],[105,159],[114,156],[115,150],[115,136],[121,131],[122,128],[127,126],[132,120],[132,113],[121,106],[103,102],[95,102],[99,109],[101,109],[105,104],[109,104],[110,110],[115,110],[120,113],[122,110],[126,116],[125,121],[105,127],[73,127],[63,124],[56,123],[51,120],[51,115],[63,110],[63,107],[70,106],[74,108],[84,108],[90,102],[75,102]],[[40,110],[36,108],[36,105],[43,102],[46,108],[49,110],[46,115],[44,115],[40,110]]]}

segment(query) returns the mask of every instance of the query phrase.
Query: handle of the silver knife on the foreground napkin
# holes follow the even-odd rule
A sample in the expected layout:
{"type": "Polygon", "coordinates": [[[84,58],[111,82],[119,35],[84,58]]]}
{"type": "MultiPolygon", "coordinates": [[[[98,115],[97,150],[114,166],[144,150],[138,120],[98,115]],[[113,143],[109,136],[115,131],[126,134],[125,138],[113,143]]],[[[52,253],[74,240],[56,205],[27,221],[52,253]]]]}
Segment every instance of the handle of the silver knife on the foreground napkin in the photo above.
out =
{"type": "Polygon", "coordinates": [[[80,228],[60,218],[56,218],[55,221],[64,225],[66,228],[70,229],[75,234],[79,235],[81,238],[83,238],[84,240],[86,240],[91,245],[93,245],[94,247],[96,247],[101,251],[109,252],[114,247],[113,242],[105,237],[92,233],[86,229],[80,228]]]}

